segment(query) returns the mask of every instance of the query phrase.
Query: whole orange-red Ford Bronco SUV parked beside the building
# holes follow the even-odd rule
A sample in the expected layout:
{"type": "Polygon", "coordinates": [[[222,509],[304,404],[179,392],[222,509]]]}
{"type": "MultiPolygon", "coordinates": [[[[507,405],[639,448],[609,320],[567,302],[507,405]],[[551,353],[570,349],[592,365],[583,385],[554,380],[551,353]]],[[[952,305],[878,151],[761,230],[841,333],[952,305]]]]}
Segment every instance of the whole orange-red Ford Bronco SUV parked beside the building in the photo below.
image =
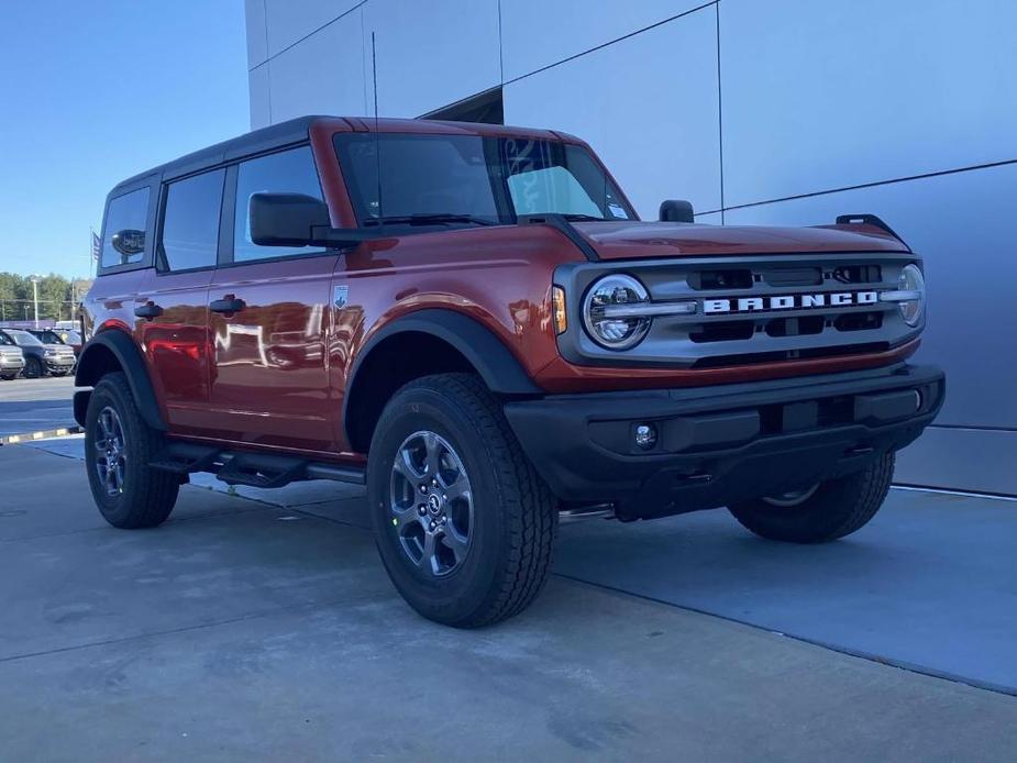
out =
{"type": "Polygon", "coordinates": [[[124,180],[102,228],[75,414],[103,517],[158,524],[191,472],[363,484],[453,626],[522,610],[560,519],[854,532],[943,400],[880,219],[643,222],[554,131],[299,119],[124,180]]]}

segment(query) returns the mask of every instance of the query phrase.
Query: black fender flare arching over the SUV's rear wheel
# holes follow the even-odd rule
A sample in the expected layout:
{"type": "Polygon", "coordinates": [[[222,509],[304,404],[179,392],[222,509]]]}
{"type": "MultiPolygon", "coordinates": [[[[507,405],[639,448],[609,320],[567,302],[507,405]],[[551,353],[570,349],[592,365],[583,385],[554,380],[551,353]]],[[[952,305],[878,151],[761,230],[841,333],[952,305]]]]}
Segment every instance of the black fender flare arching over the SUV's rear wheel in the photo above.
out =
{"type": "MultiPolygon", "coordinates": [[[[74,377],[75,386],[95,386],[107,369],[103,358],[108,354],[112,354],[124,376],[128,377],[128,385],[131,387],[134,405],[137,406],[137,410],[145,423],[155,430],[165,432],[166,423],[159,413],[158,402],[152,387],[152,379],[148,378],[145,361],[141,352],[139,352],[134,340],[126,332],[119,329],[107,329],[88,340],[81,350],[81,356],[78,358],[78,368],[74,377]]],[[[81,427],[85,425],[85,413],[88,410],[88,399],[90,397],[91,390],[80,390],[74,394],[74,418],[81,427]]]]}

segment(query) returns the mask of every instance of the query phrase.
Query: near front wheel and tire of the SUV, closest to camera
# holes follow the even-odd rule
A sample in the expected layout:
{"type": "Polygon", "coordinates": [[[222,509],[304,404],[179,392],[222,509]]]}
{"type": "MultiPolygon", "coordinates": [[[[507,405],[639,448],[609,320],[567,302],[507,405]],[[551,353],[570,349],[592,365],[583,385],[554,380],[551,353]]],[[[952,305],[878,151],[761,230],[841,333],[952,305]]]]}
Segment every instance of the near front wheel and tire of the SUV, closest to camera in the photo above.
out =
{"type": "Polygon", "coordinates": [[[367,497],[385,568],[423,617],[488,626],[543,587],[554,497],[476,377],[428,376],[389,400],[371,442],[367,497]]]}

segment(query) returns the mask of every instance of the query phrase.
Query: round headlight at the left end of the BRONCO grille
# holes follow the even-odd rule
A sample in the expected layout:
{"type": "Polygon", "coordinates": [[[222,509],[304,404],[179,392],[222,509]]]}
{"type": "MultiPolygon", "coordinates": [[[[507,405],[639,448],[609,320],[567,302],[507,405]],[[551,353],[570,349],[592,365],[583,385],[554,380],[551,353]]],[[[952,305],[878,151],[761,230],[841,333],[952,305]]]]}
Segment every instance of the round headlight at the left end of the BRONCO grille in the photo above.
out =
{"type": "Polygon", "coordinates": [[[600,346],[628,350],[650,330],[646,316],[627,314],[627,308],[650,301],[645,287],[631,276],[611,275],[596,281],[583,300],[583,324],[600,346]]]}

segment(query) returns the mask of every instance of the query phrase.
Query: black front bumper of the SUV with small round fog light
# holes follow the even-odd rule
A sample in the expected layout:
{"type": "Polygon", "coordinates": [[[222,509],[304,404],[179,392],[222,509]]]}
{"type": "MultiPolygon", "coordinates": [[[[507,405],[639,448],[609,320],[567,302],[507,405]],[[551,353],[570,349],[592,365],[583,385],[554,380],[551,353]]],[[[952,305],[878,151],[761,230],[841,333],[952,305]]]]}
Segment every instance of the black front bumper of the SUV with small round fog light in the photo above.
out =
{"type": "Polygon", "coordinates": [[[511,401],[505,414],[562,500],[622,519],[715,508],[864,468],[917,438],[943,373],[897,365],[766,383],[511,401]],[[657,439],[640,450],[635,427],[657,439]]]}

